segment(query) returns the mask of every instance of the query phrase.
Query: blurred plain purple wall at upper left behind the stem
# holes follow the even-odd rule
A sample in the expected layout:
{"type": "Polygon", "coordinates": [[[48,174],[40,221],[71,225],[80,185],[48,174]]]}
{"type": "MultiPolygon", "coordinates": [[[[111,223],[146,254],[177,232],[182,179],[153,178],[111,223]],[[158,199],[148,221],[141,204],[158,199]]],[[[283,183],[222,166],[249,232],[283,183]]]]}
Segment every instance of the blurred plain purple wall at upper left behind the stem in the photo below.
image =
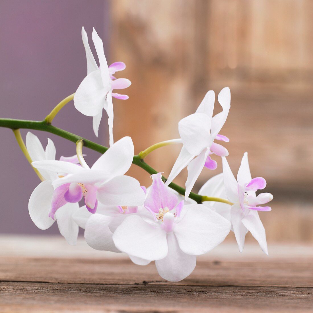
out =
{"type": "MultiPolygon", "coordinates": [[[[81,27],[89,40],[95,27],[107,52],[109,23],[108,4],[103,0],[1,0],[0,116],[43,120],[60,100],[76,91],[87,73],[81,27]]],[[[96,139],[91,117],[80,114],[73,102],[59,113],[54,125],[107,144],[106,123],[101,123],[96,139]]],[[[22,131],[23,138],[26,132],[22,131]]],[[[33,133],[44,147],[47,137],[54,141],[57,158],[75,154],[74,143],[48,133],[33,133]]],[[[28,199],[40,181],[13,132],[0,128],[0,142],[0,233],[57,233],[56,223],[42,231],[29,218],[28,199]]],[[[87,149],[84,152],[91,164],[99,156],[87,149]]]]}

